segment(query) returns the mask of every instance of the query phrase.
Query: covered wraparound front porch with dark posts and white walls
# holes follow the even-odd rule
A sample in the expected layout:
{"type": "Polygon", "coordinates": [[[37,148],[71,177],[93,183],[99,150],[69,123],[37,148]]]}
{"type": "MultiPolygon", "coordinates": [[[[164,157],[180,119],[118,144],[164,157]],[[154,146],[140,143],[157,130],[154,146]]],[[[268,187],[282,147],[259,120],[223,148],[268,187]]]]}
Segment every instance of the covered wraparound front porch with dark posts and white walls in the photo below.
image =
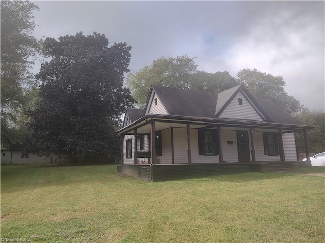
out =
{"type": "Polygon", "coordinates": [[[151,181],[295,169],[297,132],[304,133],[308,154],[307,130],[299,125],[150,115],[120,131],[119,171],[141,179],[150,174],[151,181]]]}

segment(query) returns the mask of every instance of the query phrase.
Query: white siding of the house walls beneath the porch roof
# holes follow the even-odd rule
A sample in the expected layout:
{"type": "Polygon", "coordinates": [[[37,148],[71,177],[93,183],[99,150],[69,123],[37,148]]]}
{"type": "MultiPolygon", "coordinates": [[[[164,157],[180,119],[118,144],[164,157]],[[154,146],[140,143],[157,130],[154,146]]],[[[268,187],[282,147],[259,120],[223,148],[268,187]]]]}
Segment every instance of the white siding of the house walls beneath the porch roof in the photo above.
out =
{"type": "MultiPolygon", "coordinates": [[[[186,128],[173,128],[174,131],[174,163],[187,163],[187,132],[186,128]]],[[[150,136],[150,135],[149,135],[150,136]]],[[[171,164],[172,163],[172,147],[171,147],[171,129],[161,131],[163,155],[157,157],[157,164],[171,164]]],[[[221,143],[223,151],[223,160],[229,163],[238,162],[237,152],[237,135],[235,130],[222,130],[221,143]],[[233,144],[228,144],[232,141],[233,144]]],[[[254,145],[256,161],[280,161],[280,156],[264,155],[263,146],[263,132],[254,132],[254,145]]],[[[285,151],[285,159],[287,161],[296,161],[296,145],[294,133],[283,134],[283,145],[285,151]]],[[[140,143],[138,141],[138,151],[140,143]]],[[[124,136],[124,164],[133,164],[133,150],[134,150],[134,135],[124,136]],[[126,140],[132,139],[132,158],[126,159],[126,140]]],[[[148,135],[145,135],[144,151],[149,151],[148,135]]],[[[191,129],[191,151],[192,163],[218,163],[219,156],[203,156],[199,155],[198,148],[198,130],[191,129]]],[[[251,141],[249,136],[249,152],[251,156],[251,141]]],[[[138,163],[141,161],[148,161],[148,159],[138,158],[138,163]]],[[[251,159],[252,161],[252,159],[251,159]]]]}

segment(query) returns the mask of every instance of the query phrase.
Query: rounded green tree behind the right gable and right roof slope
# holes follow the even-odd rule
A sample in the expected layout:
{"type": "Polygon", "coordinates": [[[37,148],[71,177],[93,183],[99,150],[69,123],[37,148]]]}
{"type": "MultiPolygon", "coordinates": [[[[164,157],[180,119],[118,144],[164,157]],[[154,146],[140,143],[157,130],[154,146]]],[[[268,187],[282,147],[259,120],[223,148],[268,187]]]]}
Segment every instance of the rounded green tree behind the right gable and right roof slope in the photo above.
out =
{"type": "Polygon", "coordinates": [[[243,69],[237,77],[238,82],[244,84],[255,98],[270,99],[290,114],[301,109],[299,101],[285,92],[282,76],[273,76],[257,69],[243,69]]]}

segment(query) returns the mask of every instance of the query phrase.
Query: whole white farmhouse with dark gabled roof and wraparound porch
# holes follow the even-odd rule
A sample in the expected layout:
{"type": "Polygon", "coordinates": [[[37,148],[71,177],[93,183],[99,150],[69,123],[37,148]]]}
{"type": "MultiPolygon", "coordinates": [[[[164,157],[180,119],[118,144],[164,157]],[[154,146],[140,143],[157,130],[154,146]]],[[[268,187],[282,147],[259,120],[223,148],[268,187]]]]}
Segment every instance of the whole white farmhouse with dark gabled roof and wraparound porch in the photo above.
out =
{"type": "Polygon", "coordinates": [[[144,110],[127,109],[117,131],[123,138],[118,170],[161,181],[293,169],[296,133],[304,133],[307,145],[311,128],[271,100],[254,99],[243,85],[219,94],[151,86],[144,110]]]}

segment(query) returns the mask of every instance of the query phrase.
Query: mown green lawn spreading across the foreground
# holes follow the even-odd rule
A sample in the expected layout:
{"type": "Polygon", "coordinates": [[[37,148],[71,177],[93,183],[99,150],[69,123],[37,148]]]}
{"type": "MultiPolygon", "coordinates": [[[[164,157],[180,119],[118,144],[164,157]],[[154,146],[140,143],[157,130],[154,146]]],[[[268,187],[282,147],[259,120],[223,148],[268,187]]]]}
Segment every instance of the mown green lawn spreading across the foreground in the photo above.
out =
{"type": "Polygon", "coordinates": [[[2,166],[1,237],[25,242],[325,241],[325,177],[243,173],[149,183],[116,173],[116,165],[2,166]]]}

